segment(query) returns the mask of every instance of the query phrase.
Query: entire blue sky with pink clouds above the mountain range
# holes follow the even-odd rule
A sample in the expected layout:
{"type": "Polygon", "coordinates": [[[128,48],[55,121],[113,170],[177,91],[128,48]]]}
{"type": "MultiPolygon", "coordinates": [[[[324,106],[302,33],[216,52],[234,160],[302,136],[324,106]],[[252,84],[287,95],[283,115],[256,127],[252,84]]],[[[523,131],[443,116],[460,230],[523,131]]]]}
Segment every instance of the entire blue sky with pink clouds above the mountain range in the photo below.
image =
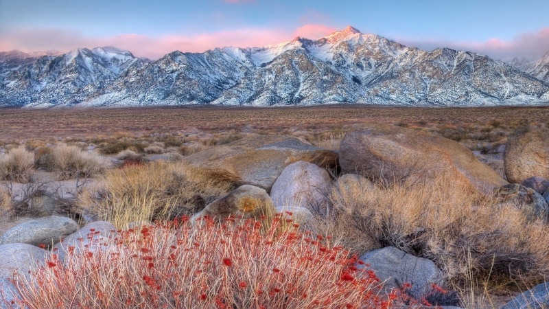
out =
{"type": "Polygon", "coordinates": [[[110,45],[154,60],[352,25],[428,51],[535,60],[549,52],[548,12],[548,0],[0,0],[0,52],[110,45]]]}

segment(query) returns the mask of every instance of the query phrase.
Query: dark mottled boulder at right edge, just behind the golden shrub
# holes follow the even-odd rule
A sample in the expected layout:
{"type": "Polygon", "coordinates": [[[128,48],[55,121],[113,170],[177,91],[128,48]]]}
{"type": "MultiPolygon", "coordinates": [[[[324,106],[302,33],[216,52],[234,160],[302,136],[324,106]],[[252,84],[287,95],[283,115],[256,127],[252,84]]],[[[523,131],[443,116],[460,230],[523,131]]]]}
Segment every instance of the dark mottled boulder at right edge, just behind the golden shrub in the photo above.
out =
{"type": "Polygon", "coordinates": [[[549,205],[544,196],[529,187],[510,183],[496,189],[494,197],[499,203],[509,203],[522,209],[528,220],[537,218],[541,218],[545,222],[549,220],[549,205]]]}

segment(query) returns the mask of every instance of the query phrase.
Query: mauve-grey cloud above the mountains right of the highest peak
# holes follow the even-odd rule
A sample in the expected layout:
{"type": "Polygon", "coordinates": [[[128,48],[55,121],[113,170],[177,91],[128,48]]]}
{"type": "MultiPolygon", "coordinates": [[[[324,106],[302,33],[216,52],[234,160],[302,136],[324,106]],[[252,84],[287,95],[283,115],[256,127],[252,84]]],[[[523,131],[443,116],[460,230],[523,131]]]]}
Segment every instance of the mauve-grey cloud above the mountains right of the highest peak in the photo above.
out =
{"type": "Polygon", "coordinates": [[[449,47],[486,54],[495,59],[525,57],[529,60],[535,60],[546,54],[546,52],[549,52],[549,27],[541,28],[537,32],[519,34],[509,41],[504,41],[500,38],[490,38],[484,42],[436,39],[414,40],[406,38],[395,38],[395,41],[425,50],[449,47]]]}

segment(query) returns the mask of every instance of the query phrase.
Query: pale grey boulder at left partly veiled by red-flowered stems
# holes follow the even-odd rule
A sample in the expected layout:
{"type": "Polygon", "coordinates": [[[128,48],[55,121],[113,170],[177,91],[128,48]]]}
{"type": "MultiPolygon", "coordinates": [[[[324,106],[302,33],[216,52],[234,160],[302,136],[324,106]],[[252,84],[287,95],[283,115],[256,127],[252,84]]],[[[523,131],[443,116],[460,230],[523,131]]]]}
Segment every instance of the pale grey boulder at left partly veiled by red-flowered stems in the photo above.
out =
{"type": "Polygon", "coordinates": [[[69,252],[82,254],[84,251],[99,251],[106,249],[107,244],[117,235],[115,226],[107,221],[94,221],[65,237],[58,242],[52,251],[58,255],[60,261],[65,260],[69,252]]]}

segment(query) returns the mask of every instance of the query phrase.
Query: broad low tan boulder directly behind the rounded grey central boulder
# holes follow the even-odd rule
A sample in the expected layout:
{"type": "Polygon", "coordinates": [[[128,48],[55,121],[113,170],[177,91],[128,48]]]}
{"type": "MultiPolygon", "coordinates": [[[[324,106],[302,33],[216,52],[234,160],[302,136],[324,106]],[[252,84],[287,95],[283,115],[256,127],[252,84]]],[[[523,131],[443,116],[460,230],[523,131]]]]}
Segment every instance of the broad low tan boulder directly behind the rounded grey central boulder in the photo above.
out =
{"type": "Polygon", "coordinates": [[[307,161],[334,168],[338,154],[285,135],[262,135],[233,141],[185,157],[191,165],[214,176],[264,188],[268,192],[282,170],[291,163],[307,161]]]}

